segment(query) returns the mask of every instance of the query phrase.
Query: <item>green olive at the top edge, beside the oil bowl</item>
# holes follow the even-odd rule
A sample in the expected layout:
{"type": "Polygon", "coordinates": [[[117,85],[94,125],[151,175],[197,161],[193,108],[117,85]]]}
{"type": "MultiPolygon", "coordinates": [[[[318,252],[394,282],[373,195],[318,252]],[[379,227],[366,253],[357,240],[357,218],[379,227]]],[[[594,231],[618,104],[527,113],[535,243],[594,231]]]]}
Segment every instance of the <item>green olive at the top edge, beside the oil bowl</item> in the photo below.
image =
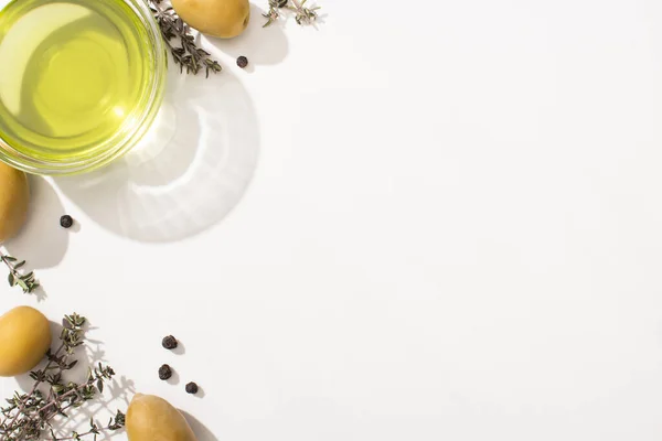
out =
{"type": "Polygon", "coordinates": [[[232,39],[250,20],[248,0],[172,0],[179,17],[203,34],[232,39]]]}

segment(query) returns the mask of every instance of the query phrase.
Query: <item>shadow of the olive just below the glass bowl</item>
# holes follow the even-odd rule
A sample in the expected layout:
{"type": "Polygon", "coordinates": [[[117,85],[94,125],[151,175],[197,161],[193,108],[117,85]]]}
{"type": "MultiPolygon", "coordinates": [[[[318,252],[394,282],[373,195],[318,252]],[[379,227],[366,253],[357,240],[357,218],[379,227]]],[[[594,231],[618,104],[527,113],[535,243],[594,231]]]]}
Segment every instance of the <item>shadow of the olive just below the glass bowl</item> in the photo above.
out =
{"type": "MultiPolygon", "coordinates": [[[[26,260],[21,268],[23,272],[57,266],[64,258],[70,240],[70,233],[60,226],[64,207],[52,183],[40,176],[29,179],[28,220],[17,237],[3,244],[10,256],[26,260]]],[[[39,280],[39,273],[36,278],[39,280]]],[[[35,293],[40,300],[46,297],[41,289],[35,293]]]]}

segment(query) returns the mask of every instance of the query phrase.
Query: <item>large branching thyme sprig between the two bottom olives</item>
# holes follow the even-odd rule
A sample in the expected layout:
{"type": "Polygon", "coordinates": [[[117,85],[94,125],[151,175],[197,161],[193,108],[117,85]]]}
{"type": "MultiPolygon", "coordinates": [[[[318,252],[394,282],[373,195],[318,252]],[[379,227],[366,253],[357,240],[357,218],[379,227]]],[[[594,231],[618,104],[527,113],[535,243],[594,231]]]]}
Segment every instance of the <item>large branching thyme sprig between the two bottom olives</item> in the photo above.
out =
{"type": "MultiPolygon", "coordinates": [[[[89,368],[87,379],[82,384],[65,380],[64,374],[74,368],[78,361],[74,358],[77,347],[84,344],[84,326],[87,320],[76,313],[65,315],[60,345],[55,352],[46,353],[44,368],[30,373],[34,385],[28,394],[14,392],[7,399],[7,406],[0,408],[0,441],[14,440],[83,440],[105,432],[114,432],[125,426],[125,415],[117,411],[107,424],[89,420],[85,432],[71,431],[57,437],[54,422],[68,418],[68,412],[82,407],[104,391],[104,384],[110,381],[115,372],[110,366],[98,364],[89,368]]],[[[66,420],[64,421],[66,423],[66,420]]]]}

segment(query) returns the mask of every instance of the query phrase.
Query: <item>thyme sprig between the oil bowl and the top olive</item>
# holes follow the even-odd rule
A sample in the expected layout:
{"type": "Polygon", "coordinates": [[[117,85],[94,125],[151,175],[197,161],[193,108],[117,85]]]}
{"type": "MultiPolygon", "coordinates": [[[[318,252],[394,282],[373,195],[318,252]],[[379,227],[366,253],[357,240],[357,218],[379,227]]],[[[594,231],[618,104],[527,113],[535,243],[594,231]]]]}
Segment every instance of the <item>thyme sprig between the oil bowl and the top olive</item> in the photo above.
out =
{"type": "Polygon", "coordinates": [[[196,75],[205,71],[209,78],[210,72],[218,73],[223,69],[209,52],[197,47],[191,28],[174,12],[172,6],[164,4],[163,0],[149,0],[149,7],[181,72],[185,69],[188,74],[196,75]],[[179,45],[175,43],[178,41],[179,45]]]}

